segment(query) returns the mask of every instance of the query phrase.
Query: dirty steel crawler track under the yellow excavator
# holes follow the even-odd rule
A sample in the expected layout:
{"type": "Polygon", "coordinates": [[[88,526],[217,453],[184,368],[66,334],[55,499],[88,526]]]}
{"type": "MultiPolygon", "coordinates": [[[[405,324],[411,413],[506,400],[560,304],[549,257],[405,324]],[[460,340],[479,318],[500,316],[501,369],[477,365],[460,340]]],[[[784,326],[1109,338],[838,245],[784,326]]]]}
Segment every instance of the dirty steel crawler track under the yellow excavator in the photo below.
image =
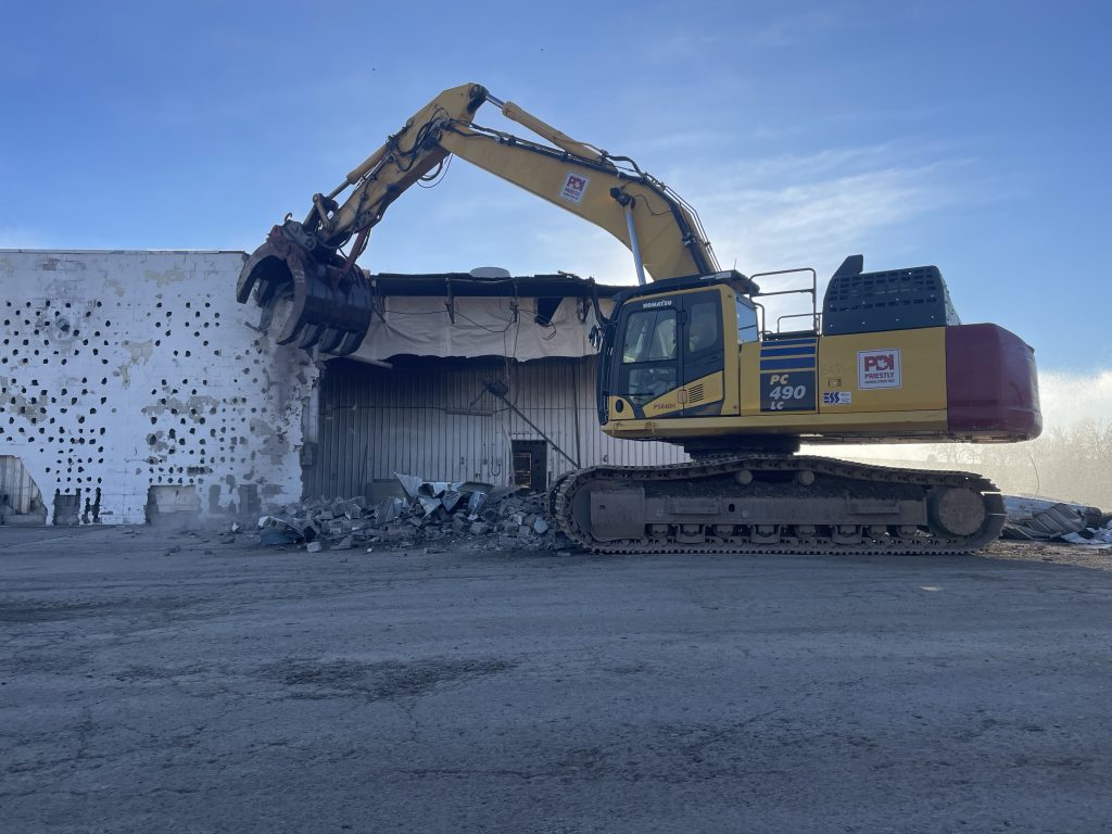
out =
{"type": "Polygon", "coordinates": [[[751,454],[563,476],[549,508],[597,553],[965,554],[1000,535],[986,478],[751,454]]]}

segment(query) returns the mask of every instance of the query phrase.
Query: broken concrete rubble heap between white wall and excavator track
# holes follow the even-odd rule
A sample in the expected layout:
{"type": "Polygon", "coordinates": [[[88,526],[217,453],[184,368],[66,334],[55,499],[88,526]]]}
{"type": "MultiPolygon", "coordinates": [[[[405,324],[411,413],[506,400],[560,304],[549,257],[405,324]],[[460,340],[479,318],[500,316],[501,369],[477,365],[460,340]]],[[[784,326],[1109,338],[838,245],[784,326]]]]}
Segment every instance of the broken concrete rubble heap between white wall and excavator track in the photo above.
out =
{"type": "Polygon", "coordinates": [[[377,545],[457,542],[470,548],[566,550],[573,543],[546,517],[545,496],[520,487],[427,481],[397,475],[397,494],[377,500],[316,498],[259,519],[259,543],[304,544],[310,553],[377,545]]]}

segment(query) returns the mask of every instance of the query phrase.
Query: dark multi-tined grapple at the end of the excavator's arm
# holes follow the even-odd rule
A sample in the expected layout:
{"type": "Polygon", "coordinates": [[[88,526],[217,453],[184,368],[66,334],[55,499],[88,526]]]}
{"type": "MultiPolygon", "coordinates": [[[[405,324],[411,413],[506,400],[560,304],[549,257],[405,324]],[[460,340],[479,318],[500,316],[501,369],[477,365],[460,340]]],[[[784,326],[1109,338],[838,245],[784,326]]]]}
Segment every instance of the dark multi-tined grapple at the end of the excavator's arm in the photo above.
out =
{"type": "Polygon", "coordinates": [[[277,334],[279,345],[347,356],[370,327],[374,299],[364,272],[335,251],[308,248],[281,226],[239,274],[236,300],[247,304],[252,291],[262,310],[260,328],[277,334]]]}

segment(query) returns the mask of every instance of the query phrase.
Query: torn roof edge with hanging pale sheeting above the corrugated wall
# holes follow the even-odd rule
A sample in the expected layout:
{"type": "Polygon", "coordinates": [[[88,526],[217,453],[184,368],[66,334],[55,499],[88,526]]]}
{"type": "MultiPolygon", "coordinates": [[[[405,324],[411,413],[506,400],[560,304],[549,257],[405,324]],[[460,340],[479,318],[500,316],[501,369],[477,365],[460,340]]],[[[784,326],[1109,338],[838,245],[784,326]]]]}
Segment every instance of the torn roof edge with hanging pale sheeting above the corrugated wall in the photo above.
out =
{"type": "Polygon", "coordinates": [[[502,356],[518,361],[595,353],[590,331],[626,287],[574,275],[369,275],[375,312],[350,359],[502,356]]]}

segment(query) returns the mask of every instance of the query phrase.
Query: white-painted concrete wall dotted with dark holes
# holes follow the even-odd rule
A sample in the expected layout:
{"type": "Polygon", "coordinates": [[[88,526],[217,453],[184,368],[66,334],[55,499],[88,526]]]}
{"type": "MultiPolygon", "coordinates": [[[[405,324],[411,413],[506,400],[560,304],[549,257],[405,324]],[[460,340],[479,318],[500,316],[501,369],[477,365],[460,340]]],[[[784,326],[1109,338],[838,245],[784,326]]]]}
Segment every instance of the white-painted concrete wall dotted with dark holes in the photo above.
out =
{"type": "Polygon", "coordinates": [[[205,510],[301,494],[302,400],[317,370],[249,327],[242,252],[0,250],[0,455],[42,492],[101,490],[142,523],[151,486],[205,510]]]}

